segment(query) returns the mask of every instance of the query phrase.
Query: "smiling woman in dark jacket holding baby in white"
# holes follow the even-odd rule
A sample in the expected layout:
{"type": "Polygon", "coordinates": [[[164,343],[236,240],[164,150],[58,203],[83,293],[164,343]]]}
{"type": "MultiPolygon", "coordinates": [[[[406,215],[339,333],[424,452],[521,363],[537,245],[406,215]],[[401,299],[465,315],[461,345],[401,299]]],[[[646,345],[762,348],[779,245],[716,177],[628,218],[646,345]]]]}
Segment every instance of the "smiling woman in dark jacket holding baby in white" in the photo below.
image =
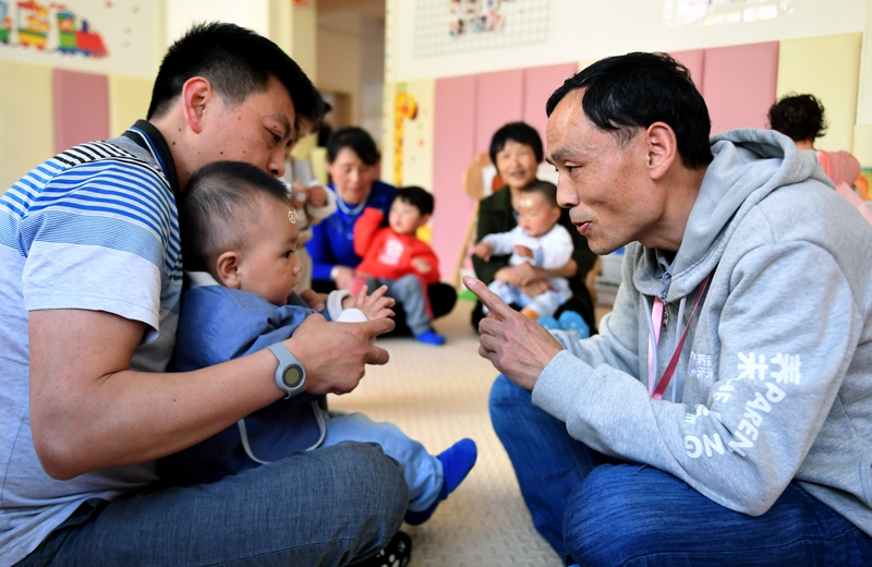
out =
{"type": "MultiPolygon", "coordinates": [[[[518,202],[522,190],[536,181],[536,171],[543,159],[542,138],[538,132],[524,122],[511,122],[494,133],[491,138],[491,161],[496,166],[500,179],[506,185],[493,195],[482,200],[479,206],[475,242],[481,242],[487,234],[509,232],[518,226],[518,202]]],[[[564,312],[572,312],[583,318],[585,326],[595,329],[593,300],[584,285],[584,276],[596,262],[596,255],[588,248],[588,241],[579,234],[569,220],[569,213],[560,215],[560,225],[572,237],[572,260],[559,269],[542,269],[529,263],[517,266],[509,265],[509,254],[493,255],[484,260],[472,257],[475,276],[489,285],[494,280],[502,280],[520,289],[528,297],[535,297],[549,288],[548,277],[559,276],[569,280],[572,298],[557,310],[556,316],[564,312]]],[[[482,303],[477,302],[472,312],[472,325],[477,328],[483,317],[482,303]]],[[[567,316],[565,321],[576,319],[567,316]]],[[[573,325],[579,326],[579,325],[573,325]]]]}

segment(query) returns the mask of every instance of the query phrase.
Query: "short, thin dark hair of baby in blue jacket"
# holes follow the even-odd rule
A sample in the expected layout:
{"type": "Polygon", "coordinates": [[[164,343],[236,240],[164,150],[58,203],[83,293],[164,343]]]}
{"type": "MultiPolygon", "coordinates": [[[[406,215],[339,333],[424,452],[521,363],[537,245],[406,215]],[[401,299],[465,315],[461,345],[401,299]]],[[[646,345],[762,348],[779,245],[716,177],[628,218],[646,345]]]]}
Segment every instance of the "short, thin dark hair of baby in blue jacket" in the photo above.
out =
{"type": "Polygon", "coordinates": [[[179,204],[184,269],[211,272],[220,254],[244,248],[262,196],[291,206],[284,183],[251,164],[214,161],[196,170],[179,204]]]}

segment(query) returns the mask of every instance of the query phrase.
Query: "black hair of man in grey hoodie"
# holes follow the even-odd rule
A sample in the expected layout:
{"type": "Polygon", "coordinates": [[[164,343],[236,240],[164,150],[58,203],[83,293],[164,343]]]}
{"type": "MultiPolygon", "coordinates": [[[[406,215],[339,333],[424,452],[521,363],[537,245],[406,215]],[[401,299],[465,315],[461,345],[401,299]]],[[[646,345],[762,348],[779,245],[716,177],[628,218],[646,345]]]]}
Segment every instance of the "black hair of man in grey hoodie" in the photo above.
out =
{"type": "Polygon", "coordinates": [[[712,162],[708,108],[690,79],[690,71],[666,53],[634,52],[602,59],[579,71],[555,91],[545,111],[572,91],[584,88],[581,107],[597,128],[613,132],[621,144],[638,129],[661,121],[675,132],[681,162],[700,169],[712,162]]]}

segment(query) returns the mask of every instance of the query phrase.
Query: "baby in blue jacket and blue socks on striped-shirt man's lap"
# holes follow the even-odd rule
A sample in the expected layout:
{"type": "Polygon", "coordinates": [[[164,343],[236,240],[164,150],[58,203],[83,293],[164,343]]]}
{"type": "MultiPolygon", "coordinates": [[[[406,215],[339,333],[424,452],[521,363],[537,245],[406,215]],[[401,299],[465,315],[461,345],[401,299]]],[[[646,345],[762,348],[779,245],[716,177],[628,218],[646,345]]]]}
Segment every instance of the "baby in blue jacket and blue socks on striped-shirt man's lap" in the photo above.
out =
{"type": "MultiPolygon", "coordinates": [[[[179,217],[191,289],[182,299],[174,370],[211,366],[270,348],[290,338],[306,317],[322,316],[292,292],[302,268],[295,253],[299,226],[280,180],[247,164],[208,165],[191,177],[179,217]]],[[[356,295],[336,291],[326,311],[338,321],[388,316],[393,301],[384,293],[384,288],[371,295],[365,289],[356,295]]],[[[304,386],[304,374],[302,379],[304,386]]],[[[393,424],[328,411],[324,396],[301,391],[161,459],[158,471],[182,485],[214,482],[346,441],[378,443],[403,467],[405,520],[412,524],[431,517],[477,455],[472,439],[461,439],[431,456],[393,424]]]]}

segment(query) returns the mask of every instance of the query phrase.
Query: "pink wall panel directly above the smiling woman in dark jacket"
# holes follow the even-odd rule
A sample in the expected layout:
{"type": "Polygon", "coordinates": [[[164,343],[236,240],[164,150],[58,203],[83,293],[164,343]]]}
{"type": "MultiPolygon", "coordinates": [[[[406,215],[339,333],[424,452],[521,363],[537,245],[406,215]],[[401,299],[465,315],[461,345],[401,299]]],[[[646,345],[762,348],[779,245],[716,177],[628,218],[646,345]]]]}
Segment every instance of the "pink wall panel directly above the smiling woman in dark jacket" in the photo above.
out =
{"type": "Polygon", "coordinates": [[[506,122],[523,119],[524,70],[484,73],[477,80],[475,150],[487,152],[494,132],[506,122]]]}

